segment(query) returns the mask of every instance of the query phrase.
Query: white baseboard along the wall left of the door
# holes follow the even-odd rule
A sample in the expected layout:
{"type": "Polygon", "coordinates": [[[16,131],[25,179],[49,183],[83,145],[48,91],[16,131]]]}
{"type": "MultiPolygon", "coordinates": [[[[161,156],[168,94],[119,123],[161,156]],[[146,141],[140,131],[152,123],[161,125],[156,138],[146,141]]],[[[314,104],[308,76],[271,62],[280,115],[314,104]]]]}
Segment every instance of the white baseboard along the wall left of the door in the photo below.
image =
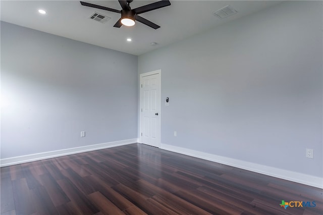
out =
{"type": "Polygon", "coordinates": [[[62,149],[57,151],[47,151],[47,152],[42,152],[37,154],[28,154],[28,155],[23,155],[18,157],[4,158],[4,159],[0,159],[0,167],[22,164],[22,163],[32,162],[34,160],[46,159],[51,157],[59,157],[59,156],[64,156],[69,154],[76,154],[76,153],[81,153],[86,151],[94,151],[94,150],[103,149],[103,148],[111,148],[111,147],[116,147],[121,145],[128,145],[128,144],[137,143],[137,142],[138,142],[138,139],[134,138],[129,140],[120,140],[120,141],[114,141],[114,142],[108,142],[108,143],[81,146],[76,148],[67,148],[67,149],[62,149]]]}

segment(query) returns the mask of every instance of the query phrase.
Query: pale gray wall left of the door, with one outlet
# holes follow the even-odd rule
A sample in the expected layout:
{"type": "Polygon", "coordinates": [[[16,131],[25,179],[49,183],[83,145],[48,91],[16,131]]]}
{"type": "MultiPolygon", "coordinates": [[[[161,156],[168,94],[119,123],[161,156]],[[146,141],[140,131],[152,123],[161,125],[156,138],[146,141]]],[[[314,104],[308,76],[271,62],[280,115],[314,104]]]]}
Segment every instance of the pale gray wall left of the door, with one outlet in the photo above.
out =
{"type": "Polygon", "coordinates": [[[137,75],[137,56],[1,22],[1,158],[137,138],[137,75]]]}

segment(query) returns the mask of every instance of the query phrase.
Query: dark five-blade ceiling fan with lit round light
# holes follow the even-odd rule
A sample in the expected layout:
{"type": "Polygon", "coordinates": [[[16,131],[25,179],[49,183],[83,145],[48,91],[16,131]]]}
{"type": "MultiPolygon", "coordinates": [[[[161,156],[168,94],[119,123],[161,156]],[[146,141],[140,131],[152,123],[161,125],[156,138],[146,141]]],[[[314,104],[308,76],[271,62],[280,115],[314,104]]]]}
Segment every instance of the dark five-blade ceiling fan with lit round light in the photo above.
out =
{"type": "Polygon", "coordinates": [[[132,1],[133,0],[127,0],[127,1],[119,0],[119,3],[122,8],[121,11],[113,9],[113,8],[107,8],[104,6],[99,6],[99,5],[94,5],[91,3],[82,2],[82,1],[80,3],[83,6],[97,8],[97,9],[111,11],[111,12],[121,14],[121,18],[118,20],[118,22],[113,27],[120,28],[122,25],[133,26],[135,24],[135,20],[136,20],[136,21],[141,22],[145,25],[148,25],[149,27],[151,27],[153,29],[160,28],[160,26],[156,25],[153,22],[150,22],[149,20],[146,20],[145,18],[139,16],[138,14],[142,14],[142,13],[145,13],[148,11],[153,11],[153,10],[156,10],[159,8],[164,8],[164,7],[171,5],[170,1],[159,1],[159,2],[151,3],[151,4],[148,4],[145,6],[141,6],[139,8],[131,9],[130,3],[132,3],[132,1]]]}

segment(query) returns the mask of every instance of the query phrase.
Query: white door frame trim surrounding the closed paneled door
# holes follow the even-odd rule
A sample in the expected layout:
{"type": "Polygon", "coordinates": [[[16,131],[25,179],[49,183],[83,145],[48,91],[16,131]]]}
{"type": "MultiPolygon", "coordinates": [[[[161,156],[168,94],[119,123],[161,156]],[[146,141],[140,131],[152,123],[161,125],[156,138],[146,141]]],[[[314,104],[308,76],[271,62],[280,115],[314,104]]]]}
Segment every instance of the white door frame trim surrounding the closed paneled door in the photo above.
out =
{"type": "Polygon", "coordinates": [[[141,109],[142,109],[142,87],[141,87],[141,84],[142,84],[142,79],[143,77],[146,77],[146,76],[150,76],[150,75],[156,75],[158,74],[159,75],[159,99],[160,99],[160,102],[159,102],[159,111],[158,111],[158,116],[159,116],[159,122],[158,122],[158,128],[159,128],[159,131],[158,132],[158,148],[160,148],[160,144],[161,144],[161,69],[159,70],[155,70],[155,71],[151,71],[151,72],[147,72],[147,73],[141,73],[140,74],[140,78],[139,78],[139,134],[138,134],[138,142],[139,143],[142,143],[142,136],[141,136],[141,132],[142,132],[142,121],[141,121],[141,109]]]}

